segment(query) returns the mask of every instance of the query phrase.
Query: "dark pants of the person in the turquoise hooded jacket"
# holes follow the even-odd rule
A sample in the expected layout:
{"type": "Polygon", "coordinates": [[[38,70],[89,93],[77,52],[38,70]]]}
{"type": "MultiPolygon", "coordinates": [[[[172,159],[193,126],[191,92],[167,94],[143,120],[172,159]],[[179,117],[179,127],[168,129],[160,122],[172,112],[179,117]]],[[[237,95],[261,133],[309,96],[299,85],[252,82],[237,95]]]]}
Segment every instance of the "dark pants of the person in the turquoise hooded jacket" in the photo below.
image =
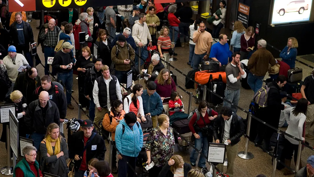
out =
{"type": "Polygon", "coordinates": [[[133,177],[134,172],[129,168],[127,162],[135,169],[136,157],[122,155],[122,160],[118,162],[118,177],[133,177]],[[126,162],[127,161],[127,162],[126,162]]]}

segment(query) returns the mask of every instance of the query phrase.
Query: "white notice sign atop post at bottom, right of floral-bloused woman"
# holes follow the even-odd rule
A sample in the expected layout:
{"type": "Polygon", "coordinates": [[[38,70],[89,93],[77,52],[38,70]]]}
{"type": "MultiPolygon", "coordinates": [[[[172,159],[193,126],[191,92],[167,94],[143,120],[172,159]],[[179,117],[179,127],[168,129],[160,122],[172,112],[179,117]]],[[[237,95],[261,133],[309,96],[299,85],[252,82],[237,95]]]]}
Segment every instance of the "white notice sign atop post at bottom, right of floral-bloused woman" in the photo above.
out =
{"type": "Polygon", "coordinates": [[[217,143],[208,143],[207,162],[225,163],[226,145],[217,143]]]}

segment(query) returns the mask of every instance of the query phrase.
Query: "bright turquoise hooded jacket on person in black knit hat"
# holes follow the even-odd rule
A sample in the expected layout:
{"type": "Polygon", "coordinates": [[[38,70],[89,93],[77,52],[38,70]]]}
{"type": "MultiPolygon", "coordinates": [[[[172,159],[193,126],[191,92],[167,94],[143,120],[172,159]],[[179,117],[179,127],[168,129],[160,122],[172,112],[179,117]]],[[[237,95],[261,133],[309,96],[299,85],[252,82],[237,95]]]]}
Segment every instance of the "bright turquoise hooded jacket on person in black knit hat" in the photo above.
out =
{"type": "Polygon", "coordinates": [[[116,127],[116,147],[125,156],[138,157],[143,146],[143,132],[141,125],[135,123],[133,130],[127,125],[124,119],[116,127]],[[124,133],[122,134],[122,125],[124,133]]]}

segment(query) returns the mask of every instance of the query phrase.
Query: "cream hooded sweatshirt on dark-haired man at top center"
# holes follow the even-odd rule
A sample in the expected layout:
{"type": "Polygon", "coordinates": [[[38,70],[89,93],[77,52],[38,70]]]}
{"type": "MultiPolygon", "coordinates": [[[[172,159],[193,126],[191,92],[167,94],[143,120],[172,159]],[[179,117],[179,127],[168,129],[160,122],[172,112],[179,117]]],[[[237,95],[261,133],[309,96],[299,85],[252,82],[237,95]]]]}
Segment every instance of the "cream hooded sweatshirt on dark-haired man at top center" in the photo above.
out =
{"type": "Polygon", "coordinates": [[[135,21],[135,24],[132,29],[132,37],[134,38],[135,44],[138,47],[138,43],[142,43],[143,46],[147,44],[147,39],[149,42],[152,42],[152,37],[146,22],[142,24],[139,23],[139,20],[135,21]]]}

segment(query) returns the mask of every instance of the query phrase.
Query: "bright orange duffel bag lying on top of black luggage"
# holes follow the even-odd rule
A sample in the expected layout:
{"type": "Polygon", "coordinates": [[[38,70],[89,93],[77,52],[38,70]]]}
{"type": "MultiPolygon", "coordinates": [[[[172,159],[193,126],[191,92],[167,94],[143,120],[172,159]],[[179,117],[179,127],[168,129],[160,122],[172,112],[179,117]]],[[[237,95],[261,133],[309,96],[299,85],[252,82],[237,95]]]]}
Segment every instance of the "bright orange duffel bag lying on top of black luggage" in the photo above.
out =
{"type": "Polygon", "coordinates": [[[204,85],[204,84],[208,83],[210,75],[213,76],[213,80],[219,79],[219,75],[221,75],[222,82],[227,83],[226,72],[224,72],[224,71],[220,71],[220,72],[198,71],[195,73],[195,81],[204,85]]]}

